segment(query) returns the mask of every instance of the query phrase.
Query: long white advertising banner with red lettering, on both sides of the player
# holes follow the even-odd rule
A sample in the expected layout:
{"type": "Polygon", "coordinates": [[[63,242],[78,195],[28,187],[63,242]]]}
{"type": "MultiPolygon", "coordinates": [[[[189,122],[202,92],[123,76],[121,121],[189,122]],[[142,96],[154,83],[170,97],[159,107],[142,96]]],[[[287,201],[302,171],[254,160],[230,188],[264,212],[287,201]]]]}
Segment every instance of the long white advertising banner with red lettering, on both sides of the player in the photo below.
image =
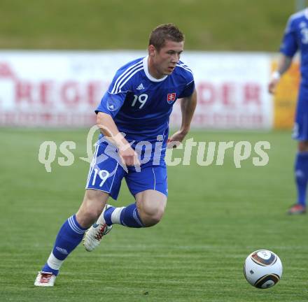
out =
{"type": "MultiPolygon", "coordinates": [[[[88,127],[116,70],[146,51],[0,52],[0,126],[88,127]]],[[[186,52],[198,105],[193,127],[269,129],[271,59],[262,53],[186,52]]],[[[181,124],[179,101],[172,127],[181,124]]]]}

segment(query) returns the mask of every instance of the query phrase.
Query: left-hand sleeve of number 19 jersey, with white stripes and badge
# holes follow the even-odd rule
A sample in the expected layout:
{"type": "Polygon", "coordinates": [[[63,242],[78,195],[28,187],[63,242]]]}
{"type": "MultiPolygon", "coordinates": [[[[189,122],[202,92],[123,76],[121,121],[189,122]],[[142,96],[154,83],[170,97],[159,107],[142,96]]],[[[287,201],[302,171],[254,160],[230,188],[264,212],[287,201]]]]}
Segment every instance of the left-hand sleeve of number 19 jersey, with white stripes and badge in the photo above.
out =
{"type": "Polygon", "coordinates": [[[113,78],[109,89],[102,97],[102,100],[99,103],[99,106],[96,108],[95,113],[102,112],[115,117],[120,108],[123,106],[129,84],[126,84],[123,87],[118,87],[118,83],[120,82],[118,80],[119,74],[120,72],[118,71],[113,78]]]}

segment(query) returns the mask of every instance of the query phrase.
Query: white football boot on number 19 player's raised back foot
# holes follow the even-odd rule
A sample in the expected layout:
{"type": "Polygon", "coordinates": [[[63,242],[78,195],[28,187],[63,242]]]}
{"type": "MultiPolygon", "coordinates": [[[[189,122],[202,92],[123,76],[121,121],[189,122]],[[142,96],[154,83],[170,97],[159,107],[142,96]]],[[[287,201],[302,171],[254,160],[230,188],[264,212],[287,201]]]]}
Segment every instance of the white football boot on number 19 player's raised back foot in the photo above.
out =
{"type": "Polygon", "coordinates": [[[110,207],[110,205],[106,204],[102,214],[99,215],[97,222],[95,222],[92,227],[85,232],[85,236],[83,237],[83,245],[85,245],[85,250],[87,250],[87,252],[92,252],[92,250],[98,247],[103,236],[111,231],[112,226],[108,226],[104,219],[104,213],[110,207]]]}

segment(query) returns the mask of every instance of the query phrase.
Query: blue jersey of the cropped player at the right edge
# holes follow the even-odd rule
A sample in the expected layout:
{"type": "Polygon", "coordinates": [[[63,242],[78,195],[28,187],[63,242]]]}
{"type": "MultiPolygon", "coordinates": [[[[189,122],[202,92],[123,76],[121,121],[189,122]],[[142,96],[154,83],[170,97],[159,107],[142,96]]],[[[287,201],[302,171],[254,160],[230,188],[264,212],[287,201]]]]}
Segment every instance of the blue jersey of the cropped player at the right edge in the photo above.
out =
{"type": "Polygon", "coordinates": [[[302,83],[308,85],[308,8],[290,16],[280,51],[293,57],[300,50],[302,83]]]}

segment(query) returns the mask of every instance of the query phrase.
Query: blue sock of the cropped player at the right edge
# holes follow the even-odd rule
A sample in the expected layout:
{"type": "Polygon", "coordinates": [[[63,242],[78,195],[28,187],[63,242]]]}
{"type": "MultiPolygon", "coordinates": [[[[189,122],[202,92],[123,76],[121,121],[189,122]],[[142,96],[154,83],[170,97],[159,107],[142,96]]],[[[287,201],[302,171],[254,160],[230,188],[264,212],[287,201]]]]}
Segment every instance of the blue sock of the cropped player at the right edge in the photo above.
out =
{"type": "Polygon", "coordinates": [[[297,186],[297,203],[306,206],[308,182],[308,152],[298,152],[295,158],[295,182],[297,186]]]}

